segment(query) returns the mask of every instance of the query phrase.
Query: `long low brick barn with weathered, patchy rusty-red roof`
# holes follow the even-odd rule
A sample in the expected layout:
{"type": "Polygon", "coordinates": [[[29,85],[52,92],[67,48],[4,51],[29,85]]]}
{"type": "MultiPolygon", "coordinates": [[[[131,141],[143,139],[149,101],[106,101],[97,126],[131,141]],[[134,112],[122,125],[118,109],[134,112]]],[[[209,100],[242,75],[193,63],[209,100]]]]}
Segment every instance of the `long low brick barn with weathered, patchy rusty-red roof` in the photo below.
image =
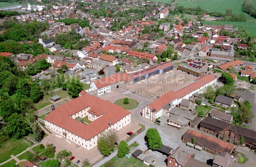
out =
{"type": "Polygon", "coordinates": [[[228,152],[228,154],[231,154],[234,149],[234,146],[228,142],[218,140],[215,137],[210,137],[190,129],[184,133],[182,136],[182,141],[191,143],[193,137],[196,138],[195,145],[202,147],[205,151],[212,154],[219,154],[223,152],[228,152]]]}

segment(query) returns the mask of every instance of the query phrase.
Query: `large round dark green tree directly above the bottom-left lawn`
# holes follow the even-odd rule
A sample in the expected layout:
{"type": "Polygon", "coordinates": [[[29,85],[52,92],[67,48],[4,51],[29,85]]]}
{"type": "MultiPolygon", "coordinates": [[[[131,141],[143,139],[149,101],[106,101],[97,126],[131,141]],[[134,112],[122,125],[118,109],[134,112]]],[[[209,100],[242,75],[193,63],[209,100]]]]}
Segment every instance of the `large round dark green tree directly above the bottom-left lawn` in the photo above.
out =
{"type": "Polygon", "coordinates": [[[12,114],[7,122],[6,133],[16,139],[26,136],[31,131],[24,117],[18,113],[12,114]]]}

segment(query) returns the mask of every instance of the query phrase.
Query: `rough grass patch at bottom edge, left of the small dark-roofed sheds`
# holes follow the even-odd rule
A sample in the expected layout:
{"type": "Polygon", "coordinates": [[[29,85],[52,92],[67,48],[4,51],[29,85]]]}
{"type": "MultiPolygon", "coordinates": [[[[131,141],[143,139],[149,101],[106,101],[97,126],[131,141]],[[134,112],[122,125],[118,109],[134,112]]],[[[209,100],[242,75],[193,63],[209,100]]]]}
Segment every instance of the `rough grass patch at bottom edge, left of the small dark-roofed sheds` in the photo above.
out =
{"type": "MultiPolygon", "coordinates": [[[[128,159],[127,157],[119,158],[118,156],[115,156],[110,160],[110,162],[114,163],[114,167],[148,167],[146,164],[133,157],[128,159]]],[[[105,164],[101,165],[100,167],[105,167],[105,164]]]]}

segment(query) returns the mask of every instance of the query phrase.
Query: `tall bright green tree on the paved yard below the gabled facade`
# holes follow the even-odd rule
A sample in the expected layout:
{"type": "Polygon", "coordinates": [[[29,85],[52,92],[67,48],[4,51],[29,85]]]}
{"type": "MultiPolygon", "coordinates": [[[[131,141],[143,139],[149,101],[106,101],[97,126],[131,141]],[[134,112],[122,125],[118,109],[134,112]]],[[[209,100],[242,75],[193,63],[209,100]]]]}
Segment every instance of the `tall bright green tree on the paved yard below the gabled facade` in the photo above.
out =
{"type": "Polygon", "coordinates": [[[157,148],[162,147],[163,143],[156,129],[149,128],[146,132],[146,136],[147,136],[147,144],[149,148],[156,150],[157,148]]]}

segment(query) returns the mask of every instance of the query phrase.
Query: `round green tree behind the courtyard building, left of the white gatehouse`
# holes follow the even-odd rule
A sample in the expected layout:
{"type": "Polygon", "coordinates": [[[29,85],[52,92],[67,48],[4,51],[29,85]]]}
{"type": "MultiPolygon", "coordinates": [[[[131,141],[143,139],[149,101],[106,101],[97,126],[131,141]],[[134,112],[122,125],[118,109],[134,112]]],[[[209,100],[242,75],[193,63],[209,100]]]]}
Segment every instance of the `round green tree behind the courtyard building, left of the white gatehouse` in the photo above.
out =
{"type": "Polygon", "coordinates": [[[83,85],[80,82],[80,80],[69,78],[69,81],[67,83],[68,93],[74,97],[78,97],[79,93],[83,90],[83,85]]]}

